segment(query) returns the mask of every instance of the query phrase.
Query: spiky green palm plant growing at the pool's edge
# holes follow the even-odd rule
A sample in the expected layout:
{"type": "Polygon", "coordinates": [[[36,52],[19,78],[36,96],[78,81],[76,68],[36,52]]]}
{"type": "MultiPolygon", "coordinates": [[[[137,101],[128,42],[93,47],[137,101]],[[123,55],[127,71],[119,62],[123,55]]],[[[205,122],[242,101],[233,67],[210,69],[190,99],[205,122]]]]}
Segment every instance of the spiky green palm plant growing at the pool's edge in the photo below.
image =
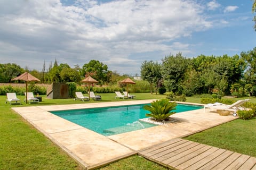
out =
{"type": "Polygon", "coordinates": [[[175,112],[171,112],[175,109],[177,104],[175,102],[170,102],[168,99],[156,100],[150,103],[151,105],[146,105],[143,108],[150,113],[146,116],[155,118],[157,121],[167,120],[169,116],[175,112]]]}

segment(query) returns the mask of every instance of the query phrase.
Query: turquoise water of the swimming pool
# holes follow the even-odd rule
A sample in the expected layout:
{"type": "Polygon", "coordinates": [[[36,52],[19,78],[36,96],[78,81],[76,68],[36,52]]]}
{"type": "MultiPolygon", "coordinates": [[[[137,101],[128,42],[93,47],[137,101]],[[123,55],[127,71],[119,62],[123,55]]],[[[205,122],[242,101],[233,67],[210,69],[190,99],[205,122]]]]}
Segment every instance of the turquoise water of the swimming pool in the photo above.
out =
{"type": "MultiPolygon", "coordinates": [[[[149,113],[143,109],[144,105],[75,109],[52,111],[51,113],[81,125],[84,128],[108,136],[156,126],[139,121],[139,119],[146,117],[146,113],[149,113]]],[[[175,112],[192,111],[199,108],[202,107],[178,104],[175,112]]]]}

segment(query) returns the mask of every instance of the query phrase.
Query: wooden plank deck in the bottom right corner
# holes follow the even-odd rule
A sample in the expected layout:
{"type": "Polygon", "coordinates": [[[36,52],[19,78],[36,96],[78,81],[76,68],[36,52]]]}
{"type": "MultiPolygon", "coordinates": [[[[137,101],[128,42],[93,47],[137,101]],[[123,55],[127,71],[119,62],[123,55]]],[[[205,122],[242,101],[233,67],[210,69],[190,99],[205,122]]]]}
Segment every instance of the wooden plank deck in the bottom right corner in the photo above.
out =
{"type": "Polygon", "coordinates": [[[176,138],[139,155],[170,169],[253,169],[256,158],[176,138]]]}

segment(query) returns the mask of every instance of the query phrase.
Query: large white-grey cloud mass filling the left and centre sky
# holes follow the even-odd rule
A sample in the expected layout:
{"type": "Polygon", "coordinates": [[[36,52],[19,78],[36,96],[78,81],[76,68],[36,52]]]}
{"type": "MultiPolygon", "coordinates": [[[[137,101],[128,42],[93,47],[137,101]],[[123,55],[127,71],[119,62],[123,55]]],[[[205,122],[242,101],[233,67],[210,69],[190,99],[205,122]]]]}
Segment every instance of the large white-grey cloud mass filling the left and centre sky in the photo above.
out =
{"type": "MultiPolygon", "coordinates": [[[[209,8],[214,5],[218,3],[212,1],[209,8]]],[[[129,68],[136,65],[120,72],[139,73],[144,60],[187,50],[189,45],[177,38],[211,28],[203,12],[196,1],[184,0],[79,0],[74,5],[10,0],[0,3],[0,43],[6,45],[0,47],[0,59],[39,70],[44,60],[47,64],[55,58],[71,67],[99,60],[113,70],[122,69],[114,64],[119,60],[129,68]],[[6,48],[12,51],[7,54],[6,48]]]]}

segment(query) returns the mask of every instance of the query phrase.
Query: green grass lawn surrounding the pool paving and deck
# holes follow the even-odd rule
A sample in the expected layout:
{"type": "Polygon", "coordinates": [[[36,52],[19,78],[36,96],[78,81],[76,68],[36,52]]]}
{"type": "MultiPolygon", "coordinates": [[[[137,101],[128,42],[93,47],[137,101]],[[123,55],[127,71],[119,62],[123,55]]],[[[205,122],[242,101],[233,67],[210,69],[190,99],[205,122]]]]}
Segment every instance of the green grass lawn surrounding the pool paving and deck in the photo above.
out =
{"type": "MultiPolygon", "coordinates": [[[[0,169],[82,169],[59,147],[55,146],[42,133],[27,123],[11,107],[78,104],[107,101],[115,99],[115,94],[99,94],[101,101],[79,101],[74,99],[47,99],[42,96],[42,103],[26,104],[24,96],[21,105],[5,104],[6,96],[0,96],[0,169]]],[[[161,99],[165,95],[134,94],[139,99],[161,99]]],[[[200,98],[187,97],[188,102],[199,103],[200,98]]],[[[255,102],[254,98],[251,101],[255,102]]],[[[235,120],[210,130],[197,133],[186,139],[205,143],[255,156],[256,119],[250,121],[235,120]]],[[[165,169],[139,156],[119,160],[100,169],[165,169]]]]}

